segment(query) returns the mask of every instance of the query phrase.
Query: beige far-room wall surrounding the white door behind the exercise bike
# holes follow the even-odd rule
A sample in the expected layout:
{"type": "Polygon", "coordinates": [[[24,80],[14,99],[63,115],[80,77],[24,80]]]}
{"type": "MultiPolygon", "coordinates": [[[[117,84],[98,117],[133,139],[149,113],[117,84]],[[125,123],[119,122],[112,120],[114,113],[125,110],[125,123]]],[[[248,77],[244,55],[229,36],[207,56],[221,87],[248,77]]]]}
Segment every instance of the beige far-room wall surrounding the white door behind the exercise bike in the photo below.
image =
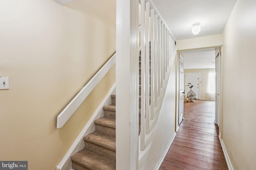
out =
{"type": "MultiPolygon", "coordinates": [[[[185,84],[185,75],[189,72],[199,72],[200,73],[200,96],[199,99],[206,99],[206,93],[207,93],[207,84],[208,84],[208,72],[214,71],[214,68],[208,68],[208,69],[187,69],[184,70],[184,87],[188,84],[185,84]]],[[[186,92],[187,94],[188,92],[186,92]]],[[[196,94],[197,96],[198,94],[196,94]]],[[[198,98],[198,97],[197,97],[198,98]]]]}

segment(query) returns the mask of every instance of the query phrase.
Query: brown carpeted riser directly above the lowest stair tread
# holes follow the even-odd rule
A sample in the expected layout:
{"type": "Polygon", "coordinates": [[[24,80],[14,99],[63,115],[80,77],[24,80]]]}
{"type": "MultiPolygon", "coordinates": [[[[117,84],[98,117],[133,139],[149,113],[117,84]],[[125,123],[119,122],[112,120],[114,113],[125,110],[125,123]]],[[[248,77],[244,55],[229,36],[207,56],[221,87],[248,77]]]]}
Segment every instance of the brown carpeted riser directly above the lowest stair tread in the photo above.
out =
{"type": "Polygon", "coordinates": [[[94,143],[89,143],[87,141],[84,141],[84,148],[92,150],[93,152],[97,152],[103,156],[107,156],[110,159],[116,160],[116,151],[115,150],[106,149],[104,147],[101,147],[94,143]]]}

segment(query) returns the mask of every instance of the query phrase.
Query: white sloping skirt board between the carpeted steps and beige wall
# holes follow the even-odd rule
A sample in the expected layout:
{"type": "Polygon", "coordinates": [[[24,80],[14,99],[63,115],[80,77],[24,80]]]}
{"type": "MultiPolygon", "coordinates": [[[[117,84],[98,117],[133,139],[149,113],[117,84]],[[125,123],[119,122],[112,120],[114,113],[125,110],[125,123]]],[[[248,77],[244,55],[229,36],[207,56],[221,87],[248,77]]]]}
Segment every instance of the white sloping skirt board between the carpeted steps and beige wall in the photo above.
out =
{"type": "Polygon", "coordinates": [[[74,141],[73,145],[70,147],[64,158],[60,161],[60,164],[56,166],[56,170],[71,170],[72,169],[72,162],[70,159],[70,156],[78,152],[79,150],[82,150],[84,148],[84,136],[92,133],[95,129],[94,120],[98,119],[100,117],[103,117],[104,111],[103,106],[111,104],[111,98],[110,95],[114,94],[114,90],[116,88],[116,84],[112,86],[112,88],[109,90],[108,94],[105,96],[105,98],[102,100],[88,123],[85,125],[82,132],[78,135],[76,140],[74,141]]]}

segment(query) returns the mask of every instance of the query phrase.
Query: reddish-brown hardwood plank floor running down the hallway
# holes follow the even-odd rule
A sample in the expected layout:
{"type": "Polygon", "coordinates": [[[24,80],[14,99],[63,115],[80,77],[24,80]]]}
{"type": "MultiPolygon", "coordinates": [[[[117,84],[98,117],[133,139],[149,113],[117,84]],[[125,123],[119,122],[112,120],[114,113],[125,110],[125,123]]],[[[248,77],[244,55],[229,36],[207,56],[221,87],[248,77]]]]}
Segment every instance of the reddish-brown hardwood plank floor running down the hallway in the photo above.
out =
{"type": "Polygon", "coordinates": [[[214,110],[214,101],[184,103],[184,120],[160,170],[228,170],[214,110]]]}

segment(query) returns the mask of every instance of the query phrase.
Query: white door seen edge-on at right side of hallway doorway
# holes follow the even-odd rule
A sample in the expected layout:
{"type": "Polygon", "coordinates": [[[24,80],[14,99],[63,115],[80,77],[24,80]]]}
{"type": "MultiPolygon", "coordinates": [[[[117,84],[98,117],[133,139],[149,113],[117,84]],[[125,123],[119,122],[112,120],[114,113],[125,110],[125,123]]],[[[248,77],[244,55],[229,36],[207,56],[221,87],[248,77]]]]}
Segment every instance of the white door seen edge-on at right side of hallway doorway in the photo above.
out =
{"type": "Polygon", "coordinates": [[[220,53],[216,57],[215,123],[220,127],[220,53]]]}

